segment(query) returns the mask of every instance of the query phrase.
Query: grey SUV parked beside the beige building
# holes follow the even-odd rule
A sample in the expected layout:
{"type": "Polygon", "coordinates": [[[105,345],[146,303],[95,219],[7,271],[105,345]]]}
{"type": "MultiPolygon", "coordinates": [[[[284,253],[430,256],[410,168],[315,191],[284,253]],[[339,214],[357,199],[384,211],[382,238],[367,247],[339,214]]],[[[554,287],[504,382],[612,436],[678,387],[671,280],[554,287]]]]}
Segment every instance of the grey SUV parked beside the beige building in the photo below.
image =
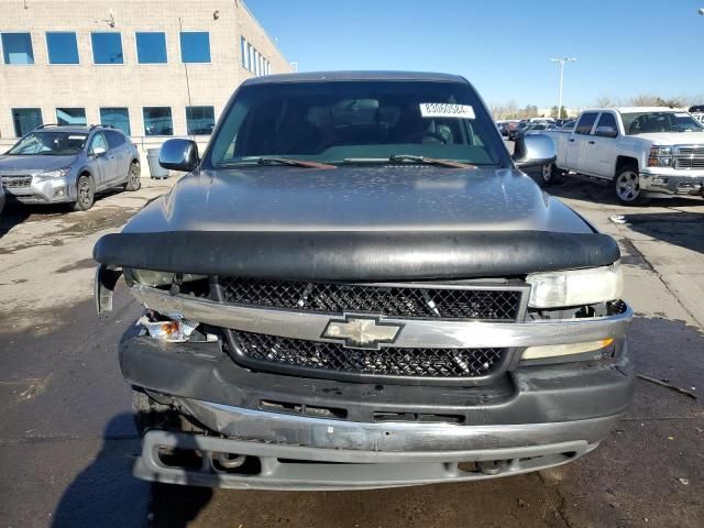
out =
{"type": "Polygon", "coordinates": [[[92,207],[96,193],[140,188],[140,154],[109,125],[42,125],[0,155],[2,187],[22,204],[92,207]]]}

